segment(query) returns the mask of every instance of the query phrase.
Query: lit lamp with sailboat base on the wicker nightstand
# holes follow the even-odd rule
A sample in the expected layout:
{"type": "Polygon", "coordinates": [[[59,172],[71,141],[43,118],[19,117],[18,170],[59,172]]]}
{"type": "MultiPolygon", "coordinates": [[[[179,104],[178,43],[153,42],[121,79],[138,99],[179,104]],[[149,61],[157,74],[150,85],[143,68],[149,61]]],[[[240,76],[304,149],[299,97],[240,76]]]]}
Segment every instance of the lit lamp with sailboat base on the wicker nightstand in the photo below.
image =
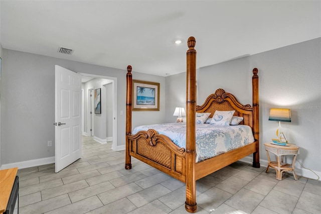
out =
{"type": "Polygon", "coordinates": [[[291,122],[291,113],[289,109],[270,109],[269,121],[278,121],[279,127],[276,130],[276,136],[280,142],[287,142],[281,131],[281,122],[291,122]]]}

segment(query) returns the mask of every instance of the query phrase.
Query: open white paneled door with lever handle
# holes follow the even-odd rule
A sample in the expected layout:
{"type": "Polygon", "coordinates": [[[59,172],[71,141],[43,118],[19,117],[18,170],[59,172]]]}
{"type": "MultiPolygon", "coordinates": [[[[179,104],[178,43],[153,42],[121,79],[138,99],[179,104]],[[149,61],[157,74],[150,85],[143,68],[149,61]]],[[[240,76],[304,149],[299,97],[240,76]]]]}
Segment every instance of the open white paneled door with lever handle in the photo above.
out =
{"type": "Polygon", "coordinates": [[[81,75],[55,66],[55,166],[81,158],[81,75]]]}

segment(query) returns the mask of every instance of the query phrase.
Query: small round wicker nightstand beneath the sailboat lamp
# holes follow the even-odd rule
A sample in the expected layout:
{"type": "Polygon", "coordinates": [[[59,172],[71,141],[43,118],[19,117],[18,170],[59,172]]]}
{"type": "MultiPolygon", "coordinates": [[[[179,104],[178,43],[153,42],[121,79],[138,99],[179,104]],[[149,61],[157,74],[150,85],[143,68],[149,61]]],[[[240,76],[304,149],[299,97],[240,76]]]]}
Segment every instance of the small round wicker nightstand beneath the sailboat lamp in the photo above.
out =
{"type": "Polygon", "coordinates": [[[294,163],[296,161],[296,156],[299,151],[299,147],[292,144],[288,144],[288,145],[289,146],[279,146],[272,143],[264,143],[265,151],[267,154],[267,160],[268,160],[268,166],[265,172],[267,173],[269,171],[269,167],[275,169],[277,180],[282,180],[282,172],[284,171],[292,171],[294,179],[297,180],[297,177],[294,171],[294,163]],[[270,161],[269,152],[276,155],[277,161],[270,161]],[[283,163],[284,155],[293,155],[292,164],[283,163]]]}

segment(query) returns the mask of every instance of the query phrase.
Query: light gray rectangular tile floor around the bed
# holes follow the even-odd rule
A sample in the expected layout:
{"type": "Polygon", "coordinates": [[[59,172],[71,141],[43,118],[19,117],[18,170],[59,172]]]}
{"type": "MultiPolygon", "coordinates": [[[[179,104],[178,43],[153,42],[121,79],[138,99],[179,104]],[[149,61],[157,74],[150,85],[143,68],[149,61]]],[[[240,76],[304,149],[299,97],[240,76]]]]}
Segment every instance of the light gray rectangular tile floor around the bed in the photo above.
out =
{"type": "MultiPolygon", "coordinates": [[[[18,171],[19,213],[187,213],[185,184],[83,137],[83,158],[18,171]]],[[[321,213],[321,181],[236,162],[197,181],[197,213],[321,213]]]]}

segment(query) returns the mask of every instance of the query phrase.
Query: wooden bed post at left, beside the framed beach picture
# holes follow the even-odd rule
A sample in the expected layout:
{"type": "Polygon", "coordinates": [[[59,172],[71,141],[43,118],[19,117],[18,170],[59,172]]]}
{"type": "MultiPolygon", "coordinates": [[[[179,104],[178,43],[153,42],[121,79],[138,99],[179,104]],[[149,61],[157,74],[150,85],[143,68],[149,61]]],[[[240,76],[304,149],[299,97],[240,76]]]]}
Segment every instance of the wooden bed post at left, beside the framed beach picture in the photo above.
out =
{"type": "Polygon", "coordinates": [[[125,157],[125,169],[131,169],[131,157],[129,155],[129,142],[128,135],[131,134],[131,85],[132,85],[132,75],[131,66],[127,66],[126,75],[126,157],[125,157]]]}

